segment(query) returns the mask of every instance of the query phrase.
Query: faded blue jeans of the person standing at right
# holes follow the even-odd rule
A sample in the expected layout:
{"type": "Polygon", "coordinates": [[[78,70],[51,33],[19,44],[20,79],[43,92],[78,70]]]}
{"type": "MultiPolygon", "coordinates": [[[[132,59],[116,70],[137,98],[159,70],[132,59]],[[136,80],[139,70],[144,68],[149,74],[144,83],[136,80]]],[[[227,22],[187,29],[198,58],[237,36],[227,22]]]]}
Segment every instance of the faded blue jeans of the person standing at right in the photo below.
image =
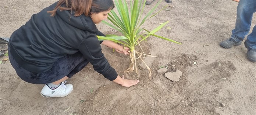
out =
{"type": "MultiPolygon", "coordinates": [[[[241,42],[250,31],[253,13],[256,12],[256,0],[240,0],[237,6],[237,21],[231,38],[241,42]]],[[[250,48],[256,48],[256,25],[245,41],[250,48]]]]}

